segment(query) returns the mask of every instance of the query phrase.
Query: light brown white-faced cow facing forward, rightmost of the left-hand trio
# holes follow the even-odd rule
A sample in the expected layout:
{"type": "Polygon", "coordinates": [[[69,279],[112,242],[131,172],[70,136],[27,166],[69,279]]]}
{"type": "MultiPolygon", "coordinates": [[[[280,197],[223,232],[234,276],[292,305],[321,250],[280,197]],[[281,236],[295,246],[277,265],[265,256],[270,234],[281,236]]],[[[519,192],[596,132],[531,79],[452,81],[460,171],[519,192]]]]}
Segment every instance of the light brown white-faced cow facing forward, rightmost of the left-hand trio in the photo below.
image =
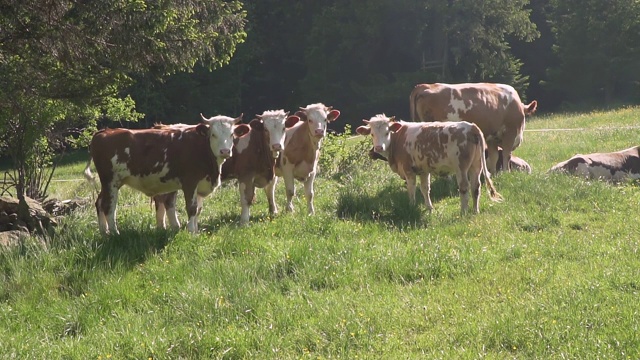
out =
{"type": "MultiPolygon", "coordinates": [[[[340,116],[340,111],[327,107],[322,103],[301,107],[296,112],[300,122],[287,129],[284,151],[276,161],[276,176],[284,178],[287,193],[287,210],[293,211],[293,196],[295,195],[294,179],[302,181],[307,200],[309,214],[314,214],[313,182],[318,170],[318,158],[322,139],[327,134],[327,124],[340,116]]],[[[265,188],[269,200],[269,209],[277,213],[278,208],[274,199],[275,177],[265,188]]]]}

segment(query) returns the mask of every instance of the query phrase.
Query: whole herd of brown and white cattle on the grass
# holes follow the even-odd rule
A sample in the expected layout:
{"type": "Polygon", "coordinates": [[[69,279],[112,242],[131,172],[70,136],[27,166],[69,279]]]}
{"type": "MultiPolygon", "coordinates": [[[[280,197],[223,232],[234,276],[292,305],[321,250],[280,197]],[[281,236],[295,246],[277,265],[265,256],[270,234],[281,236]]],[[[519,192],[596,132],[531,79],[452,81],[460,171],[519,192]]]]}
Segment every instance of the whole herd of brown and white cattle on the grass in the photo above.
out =
{"type": "MultiPolygon", "coordinates": [[[[479,212],[481,177],[490,199],[502,196],[491,181],[499,170],[531,172],[526,161],[512,155],[522,143],[525,116],[537,108],[525,105],[509,85],[419,84],[410,94],[412,122],[379,114],[356,129],[371,135],[372,158],[384,159],[406,181],[410,202],[415,203],[416,180],[429,210],[430,176],[455,174],[461,212],[468,211],[469,191],[473,211],[479,212]]],[[[284,178],[287,210],[293,211],[294,181],[304,184],[307,211],[314,213],[313,183],[327,124],[340,111],[322,103],[301,107],[294,115],[269,110],[249,124],[237,118],[214,116],[197,125],[155,125],[151,129],[103,129],[90,144],[85,176],[93,179],[91,162],[100,178],[96,200],[103,233],[118,233],[116,207],[123,185],[153,198],[157,226],[180,227],[177,191],[182,190],[188,214],[187,229],[198,231],[203,198],[222,181],[237,179],[240,224],[250,219],[255,189],[265,190],[269,212],[277,213],[274,199],[278,177],[284,178]]],[[[621,180],[640,177],[640,147],[615,153],[576,155],[554,166],[563,171],[597,178],[621,180]]]]}

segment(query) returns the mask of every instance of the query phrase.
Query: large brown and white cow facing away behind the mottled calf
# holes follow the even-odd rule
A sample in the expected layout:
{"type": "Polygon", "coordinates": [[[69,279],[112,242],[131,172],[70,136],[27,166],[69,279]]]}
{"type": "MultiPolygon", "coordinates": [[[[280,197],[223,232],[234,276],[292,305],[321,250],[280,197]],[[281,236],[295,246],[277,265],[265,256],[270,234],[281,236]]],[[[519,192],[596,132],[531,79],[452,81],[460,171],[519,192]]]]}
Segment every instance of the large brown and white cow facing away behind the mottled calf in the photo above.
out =
{"type": "Polygon", "coordinates": [[[516,90],[504,84],[418,84],[409,96],[412,121],[468,121],[482,130],[489,149],[489,171],[496,173],[498,146],[502,167],[510,170],[511,152],[522,143],[525,115],[537,101],[524,105],[516,90]]]}

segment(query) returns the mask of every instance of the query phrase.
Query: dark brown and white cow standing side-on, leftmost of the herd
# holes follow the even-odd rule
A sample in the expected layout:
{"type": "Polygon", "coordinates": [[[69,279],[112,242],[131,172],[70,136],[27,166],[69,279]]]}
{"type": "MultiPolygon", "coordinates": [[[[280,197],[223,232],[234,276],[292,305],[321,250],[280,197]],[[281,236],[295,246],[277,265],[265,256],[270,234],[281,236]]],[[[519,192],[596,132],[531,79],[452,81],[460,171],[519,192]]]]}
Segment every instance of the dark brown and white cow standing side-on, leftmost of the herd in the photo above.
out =
{"type": "Polygon", "coordinates": [[[220,169],[232,155],[234,135],[249,131],[247,125],[238,125],[242,115],[202,119],[191,127],[103,129],[93,135],[84,172],[93,179],[93,161],[101,183],[96,211],[103,233],[118,233],[116,207],[122,185],[148,196],[182,189],[189,216],[187,229],[198,231],[202,198],[220,185],[220,169]]]}

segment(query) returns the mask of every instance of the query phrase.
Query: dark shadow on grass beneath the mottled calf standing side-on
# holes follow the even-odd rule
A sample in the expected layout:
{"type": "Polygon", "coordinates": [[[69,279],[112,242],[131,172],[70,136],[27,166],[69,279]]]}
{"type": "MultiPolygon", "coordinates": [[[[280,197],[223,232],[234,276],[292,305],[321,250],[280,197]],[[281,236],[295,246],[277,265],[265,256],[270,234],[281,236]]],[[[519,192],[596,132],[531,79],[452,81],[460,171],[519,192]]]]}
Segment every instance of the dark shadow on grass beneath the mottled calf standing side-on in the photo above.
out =
{"type": "MultiPolygon", "coordinates": [[[[431,202],[434,207],[441,199],[452,196],[458,196],[455,180],[432,176],[431,202]]],[[[364,188],[345,187],[337,204],[337,214],[341,219],[384,222],[400,227],[427,226],[429,219],[422,216],[423,211],[427,212],[422,193],[416,189],[416,205],[411,205],[406,185],[389,184],[373,196],[364,188]]]]}

